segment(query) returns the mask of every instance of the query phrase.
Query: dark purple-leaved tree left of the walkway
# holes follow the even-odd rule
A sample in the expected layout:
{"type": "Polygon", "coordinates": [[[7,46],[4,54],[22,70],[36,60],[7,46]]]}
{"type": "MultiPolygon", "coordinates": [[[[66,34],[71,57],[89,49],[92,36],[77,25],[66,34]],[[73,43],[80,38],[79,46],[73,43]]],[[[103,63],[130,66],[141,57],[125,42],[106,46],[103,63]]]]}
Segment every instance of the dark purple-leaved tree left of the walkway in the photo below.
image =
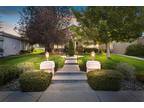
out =
{"type": "Polygon", "coordinates": [[[51,52],[54,44],[67,40],[66,27],[71,20],[68,7],[26,7],[20,13],[19,33],[31,44],[41,44],[51,52]]]}

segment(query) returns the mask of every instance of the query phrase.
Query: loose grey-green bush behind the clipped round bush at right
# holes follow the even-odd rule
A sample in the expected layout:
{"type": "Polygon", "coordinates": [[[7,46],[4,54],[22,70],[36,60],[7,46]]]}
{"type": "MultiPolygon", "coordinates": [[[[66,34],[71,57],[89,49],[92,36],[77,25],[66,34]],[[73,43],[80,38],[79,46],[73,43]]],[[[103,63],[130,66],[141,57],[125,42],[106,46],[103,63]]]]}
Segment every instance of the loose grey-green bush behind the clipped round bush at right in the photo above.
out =
{"type": "Polygon", "coordinates": [[[129,65],[128,63],[118,63],[116,70],[122,73],[124,79],[126,80],[135,78],[135,67],[129,65]]]}

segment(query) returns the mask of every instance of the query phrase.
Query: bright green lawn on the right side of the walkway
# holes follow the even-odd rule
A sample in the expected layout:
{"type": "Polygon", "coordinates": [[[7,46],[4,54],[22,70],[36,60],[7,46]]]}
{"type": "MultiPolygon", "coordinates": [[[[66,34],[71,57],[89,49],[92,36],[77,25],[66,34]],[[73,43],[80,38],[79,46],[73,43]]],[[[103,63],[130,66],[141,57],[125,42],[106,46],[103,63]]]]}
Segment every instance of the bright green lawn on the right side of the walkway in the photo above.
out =
{"type": "MultiPolygon", "coordinates": [[[[79,58],[78,62],[80,64],[80,67],[84,68],[87,60],[91,60],[90,55],[84,55],[84,57],[79,58]]],[[[103,69],[114,69],[117,63],[125,62],[128,63],[129,65],[134,66],[138,72],[144,71],[144,61],[130,57],[111,54],[111,59],[107,59],[105,54],[102,55],[96,54],[95,60],[101,62],[103,69]]]]}

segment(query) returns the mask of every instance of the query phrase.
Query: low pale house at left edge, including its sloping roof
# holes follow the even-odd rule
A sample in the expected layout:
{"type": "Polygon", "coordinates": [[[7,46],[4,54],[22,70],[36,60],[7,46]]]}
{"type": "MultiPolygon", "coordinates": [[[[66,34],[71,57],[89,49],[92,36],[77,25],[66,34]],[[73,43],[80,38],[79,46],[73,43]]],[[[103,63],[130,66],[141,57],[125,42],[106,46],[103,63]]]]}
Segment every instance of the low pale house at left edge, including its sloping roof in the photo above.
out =
{"type": "Polygon", "coordinates": [[[18,36],[0,32],[0,57],[19,54],[21,50],[27,50],[29,43],[18,36]]]}

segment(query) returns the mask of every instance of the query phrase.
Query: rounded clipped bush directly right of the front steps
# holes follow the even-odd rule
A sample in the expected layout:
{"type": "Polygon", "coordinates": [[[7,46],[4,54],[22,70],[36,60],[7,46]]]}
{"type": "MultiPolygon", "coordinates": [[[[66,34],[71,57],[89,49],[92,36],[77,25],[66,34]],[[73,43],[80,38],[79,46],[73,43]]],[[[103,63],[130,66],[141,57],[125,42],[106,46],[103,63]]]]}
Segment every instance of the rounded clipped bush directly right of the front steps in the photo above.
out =
{"type": "Polygon", "coordinates": [[[115,91],[120,89],[122,75],[114,70],[91,71],[87,73],[88,84],[94,90],[115,91]]]}

